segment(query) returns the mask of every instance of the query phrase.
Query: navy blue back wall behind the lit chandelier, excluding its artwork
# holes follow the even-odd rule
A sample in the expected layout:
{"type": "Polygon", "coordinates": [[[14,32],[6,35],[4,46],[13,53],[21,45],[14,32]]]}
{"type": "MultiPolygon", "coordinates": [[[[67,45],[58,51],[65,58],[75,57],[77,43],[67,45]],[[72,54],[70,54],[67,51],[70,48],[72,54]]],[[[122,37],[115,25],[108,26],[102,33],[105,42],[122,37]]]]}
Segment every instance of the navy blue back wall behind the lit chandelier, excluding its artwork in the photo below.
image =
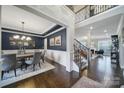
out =
{"type": "MultiPolygon", "coordinates": [[[[17,46],[11,46],[9,42],[9,37],[17,33],[2,32],[2,50],[15,50],[18,49],[17,46]]],[[[21,34],[18,34],[21,35],[21,34]]],[[[25,35],[30,36],[30,35],[25,35]]],[[[35,48],[29,46],[25,47],[26,49],[43,49],[44,48],[44,39],[42,37],[30,36],[35,41],[35,48]]]]}

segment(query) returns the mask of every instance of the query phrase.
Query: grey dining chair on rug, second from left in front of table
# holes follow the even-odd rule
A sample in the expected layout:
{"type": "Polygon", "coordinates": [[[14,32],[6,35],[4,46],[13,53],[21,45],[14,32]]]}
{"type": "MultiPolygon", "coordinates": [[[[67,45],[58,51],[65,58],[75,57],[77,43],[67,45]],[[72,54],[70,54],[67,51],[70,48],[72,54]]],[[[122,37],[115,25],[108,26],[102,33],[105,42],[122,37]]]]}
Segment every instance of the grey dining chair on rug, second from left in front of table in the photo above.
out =
{"type": "MultiPolygon", "coordinates": [[[[40,59],[41,59],[41,52],[35,52],[33,59],[32,60],[26,60],[25,63],[26,63],[26,65],[33,65],[33,71],[34,71],[36,64],[39,64],[39,67],[41,67],[40,59]]],[[[27,68],[27,66],[26,66],[26,68],[27,68]]]]}

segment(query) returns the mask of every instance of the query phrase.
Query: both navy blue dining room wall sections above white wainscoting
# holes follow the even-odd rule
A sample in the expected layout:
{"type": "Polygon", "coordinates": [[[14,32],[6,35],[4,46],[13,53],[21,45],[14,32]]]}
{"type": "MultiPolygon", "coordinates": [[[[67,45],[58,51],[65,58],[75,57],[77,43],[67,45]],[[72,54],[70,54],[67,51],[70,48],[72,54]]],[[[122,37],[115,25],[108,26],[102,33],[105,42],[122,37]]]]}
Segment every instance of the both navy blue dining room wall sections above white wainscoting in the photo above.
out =
{"type": "MultiPolygon", "coordinates": [[[[14,31],[12,31],[14,32],[14,31]]],[[[21,33],[21,32],[20,32],[21,33]]],[[[17,35],[18,33],[11,33],[11,32],[2,32],[2,50],[16,50],[18,49],[17,46],[11,46],[9,42],[9,37],[13,35],[17,35]]],[[[23,33],[24,34],[24,33],[23,33]]],[[[21,34],[19,34],[21,35],[21,34]]],[[[31,35],[25,35],[30,36],[35,41],[35,48],[29,46],[25,47],[26,49],[43,49],[44,48],[44,38],[42,37],[36,37],[31,35]]],[[[66,51],[66,29],[62,29],[59,32],[56,32],[50,36],[47,36],[47,48],[51,50],[59,50],[59,51],[66,51]],[[50,46],[50,38],[56,37],[61,35],[61,46],[50,46]]]]}

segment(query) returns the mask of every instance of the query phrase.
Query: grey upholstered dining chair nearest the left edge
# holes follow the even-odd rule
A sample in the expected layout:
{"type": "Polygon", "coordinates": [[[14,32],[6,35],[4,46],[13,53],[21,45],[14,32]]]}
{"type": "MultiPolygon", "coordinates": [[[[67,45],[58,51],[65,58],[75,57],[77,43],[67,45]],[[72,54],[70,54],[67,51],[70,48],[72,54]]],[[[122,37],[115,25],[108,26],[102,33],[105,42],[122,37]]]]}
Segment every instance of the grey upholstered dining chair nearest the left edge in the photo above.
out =
{"type": "Polygon", "coordinates": [[[5,72],[9,72],[10,70],[14,70],[14,74],[16,76],[16,68],[21,66],[21,64],[17,65],[16,61],[16,54],[7,54],[2,55],[3,61],[2,61],[2,74],[1,79],[3,79],[3,75],[5,72]]]}

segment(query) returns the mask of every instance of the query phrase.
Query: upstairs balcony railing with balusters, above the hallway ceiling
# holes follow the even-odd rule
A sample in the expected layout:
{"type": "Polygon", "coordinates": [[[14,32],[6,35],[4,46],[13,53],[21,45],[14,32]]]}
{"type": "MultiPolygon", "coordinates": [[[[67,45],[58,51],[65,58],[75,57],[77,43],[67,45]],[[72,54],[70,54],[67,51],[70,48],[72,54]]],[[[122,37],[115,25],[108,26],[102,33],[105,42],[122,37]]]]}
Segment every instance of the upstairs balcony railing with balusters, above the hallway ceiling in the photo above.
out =
{"type": "Polygon", "coordinates": [[[76,23],[79,23],[116,6],[117,5],[87,5],[76,13],[76,23]]]}

